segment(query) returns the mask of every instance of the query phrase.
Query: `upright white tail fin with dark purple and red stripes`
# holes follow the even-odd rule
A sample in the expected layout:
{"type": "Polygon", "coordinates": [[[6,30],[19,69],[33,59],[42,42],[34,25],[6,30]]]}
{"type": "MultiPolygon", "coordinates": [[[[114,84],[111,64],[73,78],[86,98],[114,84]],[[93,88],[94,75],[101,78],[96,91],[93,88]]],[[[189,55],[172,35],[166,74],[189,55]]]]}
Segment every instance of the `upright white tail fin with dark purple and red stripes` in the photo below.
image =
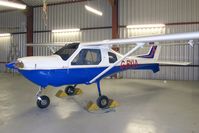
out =
{"type": "Polygon", "coordinates": [[[140,55],[138,57],[158,60],[158,57],[160,55],[160,49],[161,49],[160,46],[153,45],[153,46],[151,46],[148,54],[140,55]]]}

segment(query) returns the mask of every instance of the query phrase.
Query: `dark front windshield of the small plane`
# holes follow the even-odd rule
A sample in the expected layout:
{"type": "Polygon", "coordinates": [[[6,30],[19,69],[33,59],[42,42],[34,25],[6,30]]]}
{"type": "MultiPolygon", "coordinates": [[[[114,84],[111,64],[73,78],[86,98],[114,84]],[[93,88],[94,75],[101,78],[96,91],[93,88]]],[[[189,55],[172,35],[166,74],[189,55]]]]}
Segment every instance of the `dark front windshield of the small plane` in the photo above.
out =
{"type": "Polygon", "coordinates": [[[76,51],[78,46],[79,43],[68,44],[55,52],[55,54],[59,55],[63,60],[67,60],[76,51]]]}

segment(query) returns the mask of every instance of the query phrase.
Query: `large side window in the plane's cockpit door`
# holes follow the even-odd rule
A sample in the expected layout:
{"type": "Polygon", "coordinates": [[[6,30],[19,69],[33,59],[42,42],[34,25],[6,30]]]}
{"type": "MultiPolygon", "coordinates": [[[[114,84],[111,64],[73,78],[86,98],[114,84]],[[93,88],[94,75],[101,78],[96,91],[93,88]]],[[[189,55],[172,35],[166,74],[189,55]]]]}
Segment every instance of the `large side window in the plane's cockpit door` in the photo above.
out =
{"type": "Polygon", "coordinates": [[[71,65],[98,65],[101,60],[99,49],[82,49],[73,59],[71,65]]]}

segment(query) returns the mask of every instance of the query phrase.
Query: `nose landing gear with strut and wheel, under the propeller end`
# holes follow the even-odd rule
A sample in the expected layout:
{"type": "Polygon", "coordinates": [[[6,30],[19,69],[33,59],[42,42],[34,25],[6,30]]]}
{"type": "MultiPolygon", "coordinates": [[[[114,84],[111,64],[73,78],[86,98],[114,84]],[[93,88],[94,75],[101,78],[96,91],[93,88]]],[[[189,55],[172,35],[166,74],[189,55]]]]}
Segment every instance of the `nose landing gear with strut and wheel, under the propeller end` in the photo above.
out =
{"type": "Polygon", "coordinates": [[[50,104],[50,99],[48,98],[48,96],[46,96],[46,95],[41,96],[43,89],[44,88],[40,87],[39,91],[36,93],[37,106],[41,109],[47,108],[50,104]]]}

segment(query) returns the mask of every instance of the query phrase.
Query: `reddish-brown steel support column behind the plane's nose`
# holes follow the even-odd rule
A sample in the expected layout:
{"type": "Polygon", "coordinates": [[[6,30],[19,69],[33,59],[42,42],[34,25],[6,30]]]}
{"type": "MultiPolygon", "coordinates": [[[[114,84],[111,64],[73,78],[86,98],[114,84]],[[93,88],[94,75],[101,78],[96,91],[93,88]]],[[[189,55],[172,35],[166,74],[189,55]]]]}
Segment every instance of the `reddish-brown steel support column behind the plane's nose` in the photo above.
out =
{"type": "MultiPolygon", "coordinates": [[[[27,9],[27,43],[33,43],[33,8],[27,9]]],[[[33,47],[27,46],[27,56],[33,56],[33,47]]]]}

